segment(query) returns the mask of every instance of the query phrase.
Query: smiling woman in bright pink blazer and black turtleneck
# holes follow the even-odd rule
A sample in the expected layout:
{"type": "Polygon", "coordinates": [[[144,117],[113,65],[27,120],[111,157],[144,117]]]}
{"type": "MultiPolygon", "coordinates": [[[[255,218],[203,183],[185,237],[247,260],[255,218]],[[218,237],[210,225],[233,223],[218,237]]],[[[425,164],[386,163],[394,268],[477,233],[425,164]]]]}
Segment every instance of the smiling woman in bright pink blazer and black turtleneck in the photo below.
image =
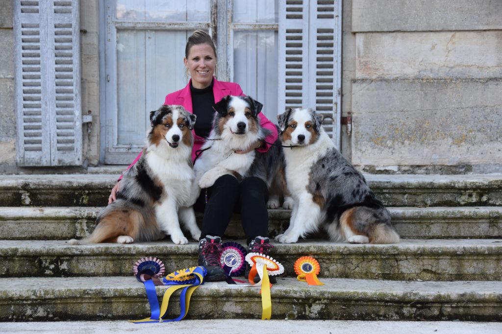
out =
{"type": "MultiPolygon", "coordinates": [[[[179,104],[197,115],[194,128],[195,142],[192,150],[193,161],[195,152],[200,149],[204,138],[211,131],[212,106],[226,95],[244,94],[238,84],[218,81],[214,77],[217,65],[216,49],[211,38],[204,31],[197,30],[188,38],[183,62],[192,78],[185,88],[168,94],[164,104],[179,104]]],[[[274,142],[277,139],[276,126],[263,113],[258,116],[260,124],[272,133],[266,138],[266,142],[274,142]]],[[[252,147],[237,151],[237,153],[246,153],[253,149],[265,152],[270,147],[266,142],[257,142],[252,147]]],[[[140,156],[141,153],[131,165],[138,161],[140,156]]],[[[115,200],[119,186],[120,182],[113,187],[108,204],[115,200]]],[[[207,189],[207,203],[205,203],[205,194],[206,192],[201,192],[201,197],[195,204],[196,210],[204,212],[199,241],[199,265],[207,268],[205,278],[207,281],[223,280],[226,275],[219,265],[222,251],[221,237],[228,226],[234,208],[241,214],[248,251],[267,254],[269,249],[273,247],[267,238],[269,230],[268,189],[265,182],[259,178],[245,178],[239,183],[235,177],[224,175],[207,189]]],[[[248,272],[249,267],[246,268],[246,277],[248,272]]],[[[275,281],[274,276],[271,276],[270,279],[275,281]]]]}

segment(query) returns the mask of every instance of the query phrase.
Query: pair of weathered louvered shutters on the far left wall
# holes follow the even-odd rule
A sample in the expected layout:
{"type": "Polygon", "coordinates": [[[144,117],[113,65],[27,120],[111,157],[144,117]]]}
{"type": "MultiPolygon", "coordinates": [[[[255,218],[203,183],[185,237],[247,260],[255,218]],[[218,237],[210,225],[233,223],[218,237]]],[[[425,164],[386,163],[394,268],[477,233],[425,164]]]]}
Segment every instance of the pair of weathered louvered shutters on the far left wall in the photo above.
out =
{"type": "Polygon", "coordinates": [[[82,164],[78,8],[14,2],[18,165],[82,164]]]}

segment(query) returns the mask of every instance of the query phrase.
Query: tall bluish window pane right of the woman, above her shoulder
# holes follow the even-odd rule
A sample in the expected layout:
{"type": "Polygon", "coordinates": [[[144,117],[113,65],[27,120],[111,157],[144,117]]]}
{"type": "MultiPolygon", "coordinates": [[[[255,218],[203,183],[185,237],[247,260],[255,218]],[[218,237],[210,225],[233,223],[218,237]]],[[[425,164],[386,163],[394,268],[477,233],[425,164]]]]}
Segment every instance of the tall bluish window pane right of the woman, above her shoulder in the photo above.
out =
{"type": "Polygon", "coordinates": [[[236,31],[233,35],[233,81],[244,94],[263,103],[276,122],[278,96],[277,31],[236,31]]]}

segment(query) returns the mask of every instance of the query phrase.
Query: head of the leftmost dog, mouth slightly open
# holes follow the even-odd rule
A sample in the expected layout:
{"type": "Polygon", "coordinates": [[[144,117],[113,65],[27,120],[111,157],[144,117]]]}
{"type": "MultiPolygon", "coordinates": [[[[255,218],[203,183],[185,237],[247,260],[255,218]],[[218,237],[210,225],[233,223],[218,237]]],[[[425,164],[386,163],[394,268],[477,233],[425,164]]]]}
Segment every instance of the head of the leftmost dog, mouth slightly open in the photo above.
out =
{"type": "Polygon", "coordinates": [[[159,146],[167,142],[172,148],[177,148],[180,143],[191,146],[195,119],[194,114],[180,105],[163,105],[158,110],[151,111],[152,129],[148,134],[149,144],[159,146]]]}

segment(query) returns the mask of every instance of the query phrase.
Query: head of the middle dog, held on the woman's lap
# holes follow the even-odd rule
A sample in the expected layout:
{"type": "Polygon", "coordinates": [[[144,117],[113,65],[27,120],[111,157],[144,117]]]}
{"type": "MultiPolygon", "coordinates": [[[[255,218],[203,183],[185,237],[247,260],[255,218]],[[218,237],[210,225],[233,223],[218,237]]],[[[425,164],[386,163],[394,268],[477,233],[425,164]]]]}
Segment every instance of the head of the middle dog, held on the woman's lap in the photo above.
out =
{"type": "Polygon", "coordinates": [[[222,134],[229,131],[233,135],[245,135],[248,131],[257,132],[258,114],[263,104],[249,96],[227,95],[213,108],[217,112],[214,128],[222,134]]]}

